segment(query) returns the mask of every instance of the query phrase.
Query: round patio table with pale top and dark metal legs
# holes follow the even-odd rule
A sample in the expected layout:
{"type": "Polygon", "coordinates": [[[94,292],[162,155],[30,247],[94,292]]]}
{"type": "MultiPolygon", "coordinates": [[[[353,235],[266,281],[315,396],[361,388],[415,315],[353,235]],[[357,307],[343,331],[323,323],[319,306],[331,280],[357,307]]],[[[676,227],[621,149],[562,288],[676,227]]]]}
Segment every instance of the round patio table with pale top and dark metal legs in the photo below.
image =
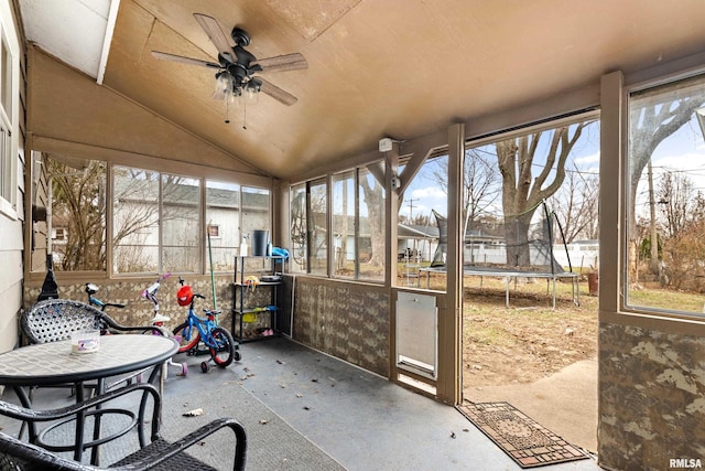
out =
{"type": "MultiPolygon", "coordinates": [[[[173,339],[139,334],[102,335],[98,351],[91,353],[72,353],[70,340],[29,345],[0,354],[0,385],[12,387],[22,405],[28,408],[32,408],[29,389],[33,386],[73,384],[76,402],[80,403],[84,400],[84,383],[88,381],[97,381],[96,394],[100,395],[106,390],[107,378],[154,366],[149,381],[154,383],[159,377],[162,382],[164,362],[177,350],[178,344],[173,339]]],[[[143,418],[145,403],[147,396],[143,396],[140,419],[143,418]]],[[[108,441],[100,439],[100,416],[98,409],[78,413],[75,418],[76,438],[70,448],[76,461],[82,460],[84,449],[93,448],[91,462],[98,464],[98,446],[108,441]],[[84,443],[86,415],[94,416],[94,439],[88,443],[84,443]]],[[[29,431],[30,442],[48,450],[66,451],[66,446],[43,443],[34,422],[29,422],[29,431]]]]}

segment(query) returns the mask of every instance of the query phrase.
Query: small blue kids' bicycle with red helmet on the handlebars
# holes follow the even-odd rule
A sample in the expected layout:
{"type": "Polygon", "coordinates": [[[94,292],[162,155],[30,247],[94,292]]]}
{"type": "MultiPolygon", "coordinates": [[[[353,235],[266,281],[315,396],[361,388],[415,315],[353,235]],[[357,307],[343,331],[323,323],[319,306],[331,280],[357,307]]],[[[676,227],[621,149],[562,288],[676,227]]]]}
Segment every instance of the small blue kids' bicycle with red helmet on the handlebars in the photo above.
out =
{"type": "MultiPolygon", "coordinates": [[[[197,355],[203,351],[198,344],[203,342],[213,362],[225,368],[232,361],[240,361],[239,345],[235,343],[232,335],[226,329],[218,327],[216,317],[220,313],[217,310],[204,309],[204,317],[199,317],[194,311],[196,298],[205,299],[204,296],[194,293],[188,285],[180,277],[181,288],[176,293],[178,306],[188,306],[186,321],[174,329],[174,339],[178,341],[178,353],[197,355]]],[[[200,371],[208,371],[208,363],[200,363],[200,371]]]]}

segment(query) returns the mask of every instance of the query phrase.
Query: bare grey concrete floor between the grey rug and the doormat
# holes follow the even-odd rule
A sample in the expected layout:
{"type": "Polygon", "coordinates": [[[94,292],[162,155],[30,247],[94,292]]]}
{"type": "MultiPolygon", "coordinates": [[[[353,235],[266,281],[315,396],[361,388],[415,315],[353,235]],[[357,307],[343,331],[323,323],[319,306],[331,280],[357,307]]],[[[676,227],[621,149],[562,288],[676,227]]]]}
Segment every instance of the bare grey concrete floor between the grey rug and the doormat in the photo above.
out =
{"type": "MultiPolygon", "coordinates": [[[[454,407],[354,365],[285,339],[241,352],[230,370],[242,386],[348,470],[521,469],[454,407]]],[[[586,459],[542,469],[600,468],[586,459]]]]}

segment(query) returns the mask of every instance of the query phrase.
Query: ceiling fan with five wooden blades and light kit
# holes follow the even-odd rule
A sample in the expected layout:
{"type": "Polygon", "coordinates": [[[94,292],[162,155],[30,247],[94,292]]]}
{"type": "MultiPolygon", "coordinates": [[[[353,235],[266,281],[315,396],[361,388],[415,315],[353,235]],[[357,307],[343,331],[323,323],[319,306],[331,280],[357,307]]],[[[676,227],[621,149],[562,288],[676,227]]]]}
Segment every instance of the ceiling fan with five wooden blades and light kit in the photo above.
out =
{"type": "Polygon", "coordinates": [[[215,18],[202,13],[194,13],[194,17],[218,49],[217,63],[159,51],[152,51],[152,55],[164,61],[215,68],[217,71],[216,88],[213,98],[225,99],[226,104],[236,97],[256,96],[260,92],[288,106],[296,103],[295,96],[254,74],[307,68],[308,64],[302,54],[293,53],[258,60],[245,49],[250,44],[250,36],[245,30],[236,26],[230,34],[227,34],[215,18]]]}

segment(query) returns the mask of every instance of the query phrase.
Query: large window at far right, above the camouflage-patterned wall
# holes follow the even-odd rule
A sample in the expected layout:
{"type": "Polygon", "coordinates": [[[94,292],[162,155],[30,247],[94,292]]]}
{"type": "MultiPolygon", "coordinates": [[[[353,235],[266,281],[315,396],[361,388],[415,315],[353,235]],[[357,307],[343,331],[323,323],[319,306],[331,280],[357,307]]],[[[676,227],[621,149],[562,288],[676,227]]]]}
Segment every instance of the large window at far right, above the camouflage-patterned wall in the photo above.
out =
{"type": "Polygon", "coordinates": [[[629,96],[626,306],[703,315],[705,77],[629,96]]]}

